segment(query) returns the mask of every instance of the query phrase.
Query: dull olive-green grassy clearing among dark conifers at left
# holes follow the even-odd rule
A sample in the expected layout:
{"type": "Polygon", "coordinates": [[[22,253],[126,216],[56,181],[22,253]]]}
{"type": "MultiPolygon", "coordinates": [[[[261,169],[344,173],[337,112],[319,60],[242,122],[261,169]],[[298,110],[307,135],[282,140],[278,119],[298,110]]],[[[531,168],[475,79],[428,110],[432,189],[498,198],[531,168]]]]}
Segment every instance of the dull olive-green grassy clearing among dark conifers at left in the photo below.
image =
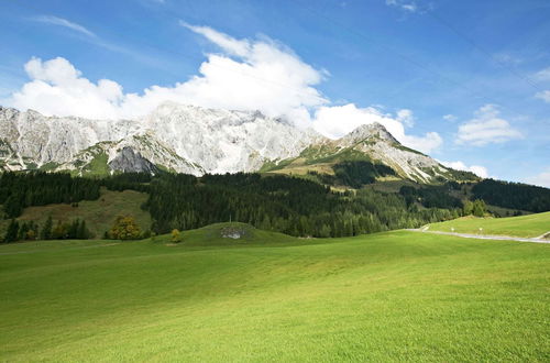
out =
{"type": "MultiPolygon", "coordinates": [[[[44,226],[48,216],[52,216],[54,226],[57,220],[63,222],[73,219],[84,219],[88,229],[100,239],[109,230],[118,216],[131,215],[135,218],[138,226],[145,231],[151,228],[151,216],[141,209],[141,205],[147,200],[147,195],[134,190],[111,191],[101,189],[101,197],[98,200],[84,200],[78,202],[78,207],[70,205],[47,205],[42,207],[25,208],[20,221],[35,221],[44,226]]],[[[6,233],[9,220],[0,221],[0,235],[6,233]]]]}

